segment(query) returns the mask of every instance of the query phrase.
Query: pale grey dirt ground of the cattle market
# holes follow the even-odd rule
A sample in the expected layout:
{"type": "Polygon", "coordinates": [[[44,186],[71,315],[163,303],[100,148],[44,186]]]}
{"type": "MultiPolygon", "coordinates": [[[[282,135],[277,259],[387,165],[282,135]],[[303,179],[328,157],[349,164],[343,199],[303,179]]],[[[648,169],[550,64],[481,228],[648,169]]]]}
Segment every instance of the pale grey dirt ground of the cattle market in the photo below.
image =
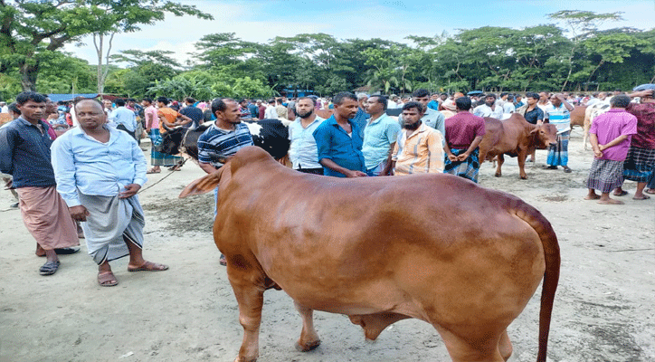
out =
{"type": "MultiPolygon", "coordinates": [[[[546,151],[518,178],[516,158],[503,176],[482,166],[480,184],[517,195],[553,224],[562,269],[549,339],[549,360],[655,360],[655,197],[625,205],[583,199],[593,155],[583,151],[582,132],[570,144],[572,174],[543,170],[546,151]]],[[[211,235],[212,195],[177,195],[203,176],[189,163],[167,176],[149,175],[140,194],[147,216],[145,256],[170,265],[164,272],[128,272],[127,260],[112,262],[114,288],[96,282],[96,265],[81,252],[61,256],[53,276],[38,269],[32,236],[7,191],[0,192],[0,361],[233,361],[242,340],[236,300],[211,235]],[[154,186],[153,186],[154,185],[154,186]]],[[[635,184],[626,182],[633,194],[635,184]]],[[[537,290],[509,326],[510,361],[534,361],[537,290]]],[[[384,330],[366,343],[346,316],[315,313],[323,343],[300,353],[293,347],[300,318],[282,291],[267,291],[260,333],[261,361],[448,361],[432,326],[415,319],[384,330]]]]}

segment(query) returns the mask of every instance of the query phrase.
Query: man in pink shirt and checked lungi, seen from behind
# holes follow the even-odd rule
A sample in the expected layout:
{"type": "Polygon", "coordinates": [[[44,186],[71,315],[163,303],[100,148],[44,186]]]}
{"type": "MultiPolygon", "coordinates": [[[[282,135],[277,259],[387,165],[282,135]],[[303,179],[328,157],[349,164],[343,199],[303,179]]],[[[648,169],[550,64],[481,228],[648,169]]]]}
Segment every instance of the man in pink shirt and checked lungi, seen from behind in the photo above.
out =
{"type": "Polygon", "coordinates": [[[610,198],[610,192],[623,183],[623,161],[628,156],[631,137],[637,133],[637,118],[625,110],[630,105],[627,95],[614,96],[610,104],[612,110],[593,119],[589,130],[594,157],[586,183],[589,194],[584,199],[621,205],[622,201],[610,198]]]}

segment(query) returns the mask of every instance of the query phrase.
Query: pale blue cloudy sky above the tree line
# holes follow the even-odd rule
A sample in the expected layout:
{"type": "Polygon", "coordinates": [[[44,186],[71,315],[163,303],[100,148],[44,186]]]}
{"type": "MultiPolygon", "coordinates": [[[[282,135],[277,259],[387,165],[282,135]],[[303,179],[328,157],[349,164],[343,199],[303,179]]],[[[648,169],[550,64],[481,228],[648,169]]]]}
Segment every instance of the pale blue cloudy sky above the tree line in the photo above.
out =
{"type": "MultiPolygon", "coordinates": [[[[129,49],[176,52],[177,60],[189,59],[194,43],[205,34],[236,33],[245,41],[266,43],[275,36],[299,33],[328,33],[338,39],[382,38],[406,42],[407,35],[433,36],[442,32],[481,26],[524,28],[551,24],[546,14],[560,10],[589,10],[596,13],[623,12],[625,21],[605,23],[602,29],[631,26],[641,30],[655,27],[655,0],[205,0],[180,1],[195,5],[214,16],[213,21],[167,14],[166,20],[142,26],[136,33],[114,37],[112,53],[129,49]]],[[[96,64],[90,37],[85,45],[69,44],[66,52],[96,64]]]]}

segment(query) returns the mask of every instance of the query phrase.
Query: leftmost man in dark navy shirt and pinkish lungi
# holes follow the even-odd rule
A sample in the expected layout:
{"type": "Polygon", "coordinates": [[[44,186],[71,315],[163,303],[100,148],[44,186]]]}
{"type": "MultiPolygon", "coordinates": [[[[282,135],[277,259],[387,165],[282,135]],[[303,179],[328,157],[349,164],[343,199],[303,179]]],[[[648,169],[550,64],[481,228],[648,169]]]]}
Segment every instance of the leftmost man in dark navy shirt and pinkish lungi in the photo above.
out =
{"type": "Polygon", "coordinates": [[[21,117],[0,129],[0,172],[14,177],[20,195],[23,222],[37,243],[37,253],[45,251],[41,275],[52,275],[60,265],[55,249],[65,253],[80,245],[77,227],[68,207],[57,194],[50,163],[52,136],[44,122],[45,97],[32,91],[16,96],[21,117]]]}

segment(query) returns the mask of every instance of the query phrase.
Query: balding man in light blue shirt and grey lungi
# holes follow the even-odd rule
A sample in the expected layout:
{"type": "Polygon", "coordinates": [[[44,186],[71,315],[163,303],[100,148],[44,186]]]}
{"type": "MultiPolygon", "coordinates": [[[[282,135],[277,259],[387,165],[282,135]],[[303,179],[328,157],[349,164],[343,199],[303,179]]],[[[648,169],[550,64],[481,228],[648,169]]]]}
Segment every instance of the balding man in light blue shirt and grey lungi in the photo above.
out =
{"type": "Polygon", "coordinates": [[[89,254],[99,265],[98,283],[117,285],[109,262],[127,255],[128,271],[166,271],[141,253],[145,220],[137,192],[146,183],[147,166],[137,141],[106,125],[95,100],[79,101],[75,111],[80,127],[52,144],[52,167],[71,216],[84,222],[89,254]]]}

